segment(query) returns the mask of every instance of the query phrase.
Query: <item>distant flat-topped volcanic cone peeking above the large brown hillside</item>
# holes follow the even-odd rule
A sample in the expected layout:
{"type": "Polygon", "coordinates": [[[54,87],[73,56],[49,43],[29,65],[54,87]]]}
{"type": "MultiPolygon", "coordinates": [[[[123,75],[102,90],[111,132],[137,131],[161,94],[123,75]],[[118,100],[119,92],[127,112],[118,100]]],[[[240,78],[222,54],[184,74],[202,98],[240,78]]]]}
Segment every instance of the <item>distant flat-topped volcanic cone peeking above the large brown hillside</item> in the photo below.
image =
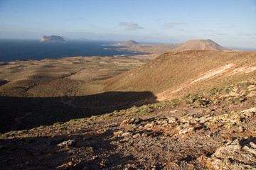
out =
{"type": "Polygon", "coordinates": [[[185,50],[216,50],[216,51],[228,51],[224,47],[221,47],[213,40],[188,40],[181,46],[176,47],[173,51],[185,51],[185,50]]]}

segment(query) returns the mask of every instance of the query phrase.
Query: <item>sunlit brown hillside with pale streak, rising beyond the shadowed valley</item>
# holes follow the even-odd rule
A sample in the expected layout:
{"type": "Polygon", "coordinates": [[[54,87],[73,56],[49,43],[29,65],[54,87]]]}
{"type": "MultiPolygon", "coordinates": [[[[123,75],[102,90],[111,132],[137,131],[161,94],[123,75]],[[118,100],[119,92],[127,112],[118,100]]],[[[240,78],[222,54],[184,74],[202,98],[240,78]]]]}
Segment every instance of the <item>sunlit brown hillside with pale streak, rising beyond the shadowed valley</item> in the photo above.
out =
{"type": "Polygon", "coordinates": [[[159,101],[255,77],[256,52],[166,52],[103,81],[107,91],[152,91],[159,101]]]}

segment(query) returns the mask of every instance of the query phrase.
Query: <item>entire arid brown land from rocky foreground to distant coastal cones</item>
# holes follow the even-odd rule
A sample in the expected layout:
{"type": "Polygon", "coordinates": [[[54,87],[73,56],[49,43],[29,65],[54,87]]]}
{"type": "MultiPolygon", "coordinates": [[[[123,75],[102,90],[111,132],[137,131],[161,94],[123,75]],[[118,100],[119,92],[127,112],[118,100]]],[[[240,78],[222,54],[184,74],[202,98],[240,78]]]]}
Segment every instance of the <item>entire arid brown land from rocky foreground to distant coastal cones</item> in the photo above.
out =
{"type": "Polygon", "coordinates": [[[256,52],[1,62],[1,169],[256,169],[256,52]]]}

